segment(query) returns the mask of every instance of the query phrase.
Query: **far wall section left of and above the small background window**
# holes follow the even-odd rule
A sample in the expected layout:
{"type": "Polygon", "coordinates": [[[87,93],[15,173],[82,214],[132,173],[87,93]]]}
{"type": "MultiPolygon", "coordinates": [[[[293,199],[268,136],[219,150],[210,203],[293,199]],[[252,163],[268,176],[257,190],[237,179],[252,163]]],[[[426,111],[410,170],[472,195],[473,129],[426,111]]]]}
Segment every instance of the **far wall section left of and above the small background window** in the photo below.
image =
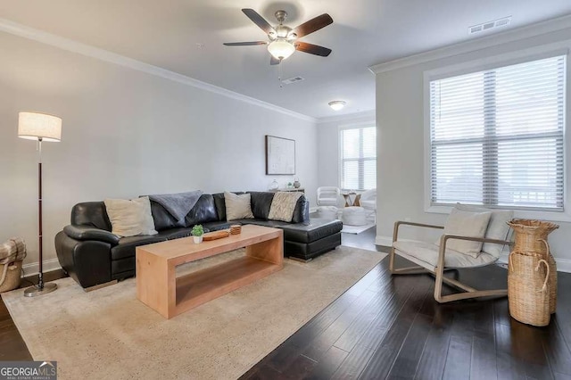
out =
{"type": "Polygon", "coordinates": [[[339,186],[339,127],[375,124],[375,112],[359,112],[318,121],[318,186],[339,186]]]}

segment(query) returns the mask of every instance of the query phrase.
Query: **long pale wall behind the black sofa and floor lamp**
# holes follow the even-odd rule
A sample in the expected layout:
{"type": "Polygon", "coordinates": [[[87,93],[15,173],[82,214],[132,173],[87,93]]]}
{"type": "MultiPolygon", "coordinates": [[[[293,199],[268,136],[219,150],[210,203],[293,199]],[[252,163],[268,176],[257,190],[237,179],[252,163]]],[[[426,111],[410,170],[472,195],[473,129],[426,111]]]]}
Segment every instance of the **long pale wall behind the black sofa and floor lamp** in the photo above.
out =
{"type": "Polygon", "coordinates": [[[37,155],[17,137],[20,111],[63,120],[62,142],[44,143],[48,264],[77,202],[293,182],[265,175],[264,135],[296,141],[295,177],[314,203],[314,121],[9,34],[0,51],[0,242],[22,236],[25,264],[37,262],[37,155]]]}

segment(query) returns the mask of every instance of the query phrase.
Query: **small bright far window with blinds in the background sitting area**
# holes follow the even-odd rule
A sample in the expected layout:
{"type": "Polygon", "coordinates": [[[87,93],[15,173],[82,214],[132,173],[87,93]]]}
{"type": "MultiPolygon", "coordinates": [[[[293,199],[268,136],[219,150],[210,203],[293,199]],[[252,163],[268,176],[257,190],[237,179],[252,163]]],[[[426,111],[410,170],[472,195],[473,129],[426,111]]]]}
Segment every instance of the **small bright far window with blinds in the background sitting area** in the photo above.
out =
{"type": "Polygon", "coordinates": [[[343,128],[339,131],[340,187],[367,190],[377,187],[377,128],[343,128]]]}

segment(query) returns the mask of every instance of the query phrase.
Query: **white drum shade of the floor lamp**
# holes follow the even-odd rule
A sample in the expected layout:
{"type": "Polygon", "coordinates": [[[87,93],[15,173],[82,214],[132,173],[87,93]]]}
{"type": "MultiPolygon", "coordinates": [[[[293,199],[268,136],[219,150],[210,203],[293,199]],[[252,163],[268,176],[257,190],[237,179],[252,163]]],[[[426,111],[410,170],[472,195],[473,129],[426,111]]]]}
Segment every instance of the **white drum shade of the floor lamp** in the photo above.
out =
{"type": "Polygon", "coordinates": [[[29,140],[61,141],[62,119],[39,112],[18,114],[18,137],[29,140]]]}

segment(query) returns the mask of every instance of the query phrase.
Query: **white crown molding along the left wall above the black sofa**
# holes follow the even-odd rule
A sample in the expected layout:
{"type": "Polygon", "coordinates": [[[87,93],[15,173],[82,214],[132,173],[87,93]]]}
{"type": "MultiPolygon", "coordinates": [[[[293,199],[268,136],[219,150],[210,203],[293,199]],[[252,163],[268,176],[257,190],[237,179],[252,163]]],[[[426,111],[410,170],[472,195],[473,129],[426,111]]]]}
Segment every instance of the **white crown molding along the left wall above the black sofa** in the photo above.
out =
{"type": "Polygon", "coordinates": [[[186,75],[179,74],[178,72],[162,69],[158,66],[153,66],[152,64],[149,63],[137,61],[135,59],[128,58],[124,55],[112,53],[108,50],[104,50],[92,45],[82,44],[78,41],[74,41],[69,38],[56,36],[54,34],[47,33],[43,30],[33,29],[26,25],[22,25],[17,22],[9,21],[3,18],[0,18],[0,31],[12,34],[14,36],[28,38],[40,42],[42,44],[58,47],[62,50],[67,50],[72,53],[86,55],[87,57],[95,58],[100,61],[114,63],[126,67],[128,69],[142,71],[147,74],[154,75],[156,77],[161,77],[172,80],[174,82],[182,83],[186,86],[192,86],[203,89],[205,91],[210,91],[211,93],[214,94],[227,96],[229,98],[236,99],[245,103],[257,105],[259,107],[268,109],[270,111],[283,113],[287,116],[292,116],[300,120],[317,122],[317,119],[312,118],[308,115],[304,115],[299,112],[294,112],[286,108],[277,106],[275,104],[255,99],[251,96],[238,94],[226,88],[214,86],[211,85],[210,83],[206,83],[198,79],[186,77],[186,75]]]}

